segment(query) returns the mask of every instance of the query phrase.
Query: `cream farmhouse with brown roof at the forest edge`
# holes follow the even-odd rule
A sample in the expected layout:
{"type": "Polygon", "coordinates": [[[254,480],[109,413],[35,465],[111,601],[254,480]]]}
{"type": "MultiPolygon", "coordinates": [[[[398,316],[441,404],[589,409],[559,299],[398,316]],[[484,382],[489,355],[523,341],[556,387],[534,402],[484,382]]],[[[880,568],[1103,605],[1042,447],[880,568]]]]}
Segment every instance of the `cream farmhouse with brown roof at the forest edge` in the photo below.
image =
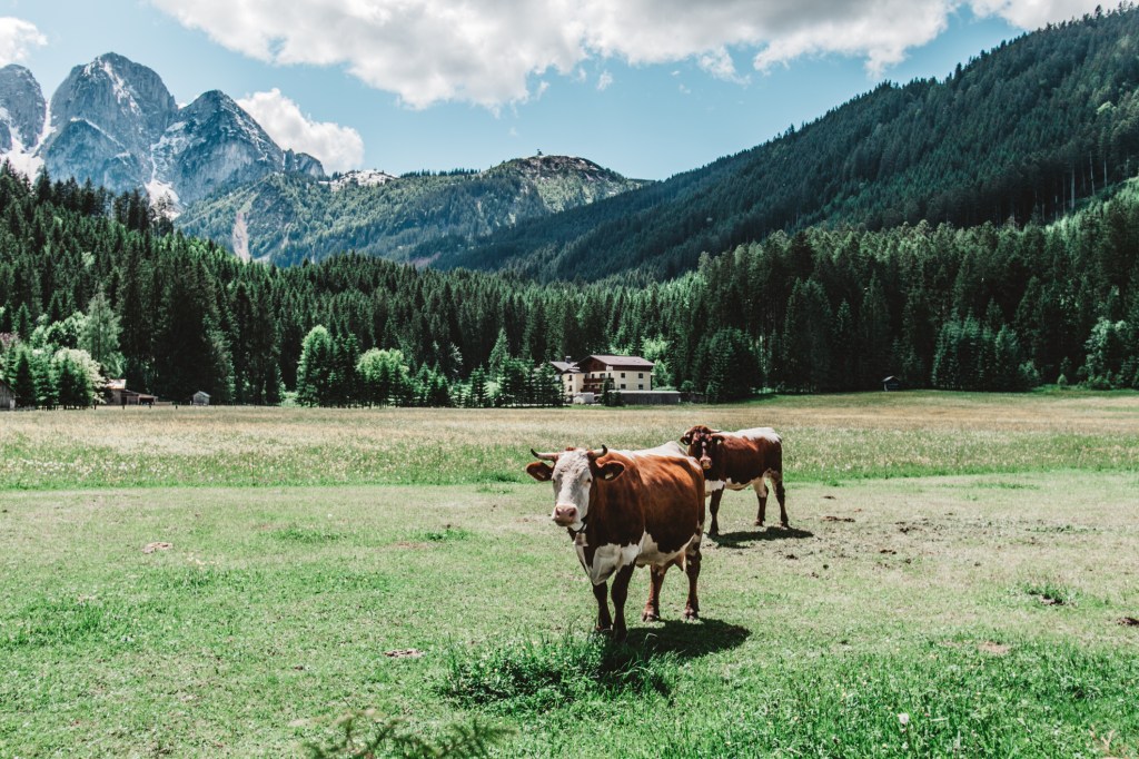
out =
{"type": "Polygon", "coordinates": [[[679,403],[680,393],[653,389],[653,361],[639,356],[592,354],[574,361],[550,361],[562,381],[566,400],[592,403],[600,400],[605,383],[612,381],[611,392],[621,394],[622,403],[654,405],[679,403]]]}

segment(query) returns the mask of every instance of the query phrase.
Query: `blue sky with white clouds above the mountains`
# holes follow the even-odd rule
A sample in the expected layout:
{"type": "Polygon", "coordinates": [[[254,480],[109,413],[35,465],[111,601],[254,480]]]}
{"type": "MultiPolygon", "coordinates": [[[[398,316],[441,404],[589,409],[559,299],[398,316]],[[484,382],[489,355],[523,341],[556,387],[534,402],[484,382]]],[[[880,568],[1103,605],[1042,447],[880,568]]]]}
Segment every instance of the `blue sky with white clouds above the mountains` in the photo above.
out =
{"type": "Polygon", "coordinates": [[[666,179],[1097,0],[0,0],[50,98],[117,52],[222,90],[329,173],[575,155],[666,179]]]}

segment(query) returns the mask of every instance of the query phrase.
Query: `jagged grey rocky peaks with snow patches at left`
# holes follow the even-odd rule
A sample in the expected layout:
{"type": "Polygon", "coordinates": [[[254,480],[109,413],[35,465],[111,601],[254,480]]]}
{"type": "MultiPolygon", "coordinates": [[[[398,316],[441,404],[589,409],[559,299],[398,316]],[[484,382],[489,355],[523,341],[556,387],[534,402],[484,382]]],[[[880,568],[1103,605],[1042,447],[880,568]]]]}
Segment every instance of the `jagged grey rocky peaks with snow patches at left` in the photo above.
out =
{"type": "Polygon", "coordinates": [[[282,150],[223,92],[179,107],[157,73],[116,54],[72,68],[50,107],[27,70],[0,70],[0,152],[28,173],[146,188],[175,205],[270,174],[323,177],[319,161],[282,150]]]}

